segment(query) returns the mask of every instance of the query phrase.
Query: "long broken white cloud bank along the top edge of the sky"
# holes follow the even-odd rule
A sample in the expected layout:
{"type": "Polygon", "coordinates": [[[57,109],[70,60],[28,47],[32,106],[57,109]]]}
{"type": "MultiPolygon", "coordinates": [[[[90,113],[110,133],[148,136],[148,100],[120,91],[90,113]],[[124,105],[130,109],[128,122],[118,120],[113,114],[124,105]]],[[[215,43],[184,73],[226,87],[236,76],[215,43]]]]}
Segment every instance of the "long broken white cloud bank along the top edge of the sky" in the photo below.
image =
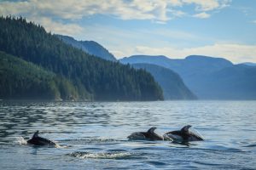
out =
{"type": "Polygon", "coordinates": [[[3,1],[0,14],[53,17],[65,20],[79,20],[93,14],[108,14],[122,20],[167,21],[182,17],[184,5],[195,5],[196,11],[211,11],[224,8],[230,0],[27,0],[3,1]],[[179,8],[177,10],[177,7],[179,8]]]}

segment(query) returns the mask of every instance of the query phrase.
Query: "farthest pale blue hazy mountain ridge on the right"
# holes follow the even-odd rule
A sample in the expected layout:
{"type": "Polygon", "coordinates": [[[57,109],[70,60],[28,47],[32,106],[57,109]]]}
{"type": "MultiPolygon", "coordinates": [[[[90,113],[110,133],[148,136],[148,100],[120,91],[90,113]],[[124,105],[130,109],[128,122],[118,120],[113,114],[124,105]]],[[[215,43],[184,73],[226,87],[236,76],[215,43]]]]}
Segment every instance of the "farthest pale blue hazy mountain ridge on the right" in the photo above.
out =
{"type": "Polygon", "coordinates": [[[120,59],[120,62],[154,64],[176,71],[199,99],[256,99],[253,74],[243,74],[253,72],[253,67],[233,65],[227,59],[201,55],[190,55],[185,59],[170,59],[163,55],[133,55],[120,59]],[[241,79],[243,86],[237,83],[241,79]]]}

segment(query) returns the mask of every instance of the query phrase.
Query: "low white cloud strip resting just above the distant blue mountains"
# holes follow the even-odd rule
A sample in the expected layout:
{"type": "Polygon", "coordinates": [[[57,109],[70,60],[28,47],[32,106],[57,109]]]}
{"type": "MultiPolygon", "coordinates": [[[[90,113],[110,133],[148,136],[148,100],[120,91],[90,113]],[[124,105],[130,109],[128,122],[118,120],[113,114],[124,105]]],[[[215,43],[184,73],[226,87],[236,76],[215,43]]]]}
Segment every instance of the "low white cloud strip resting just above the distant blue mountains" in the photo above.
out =
{"type": "Polygon", "coordinates": [[[152,48],[137,46],[134,50],[137,54],[166,55],[171,58],[183,59],[191,54],[200,54],[213,57],[230,59],[234,63],[256,62],[256,45],[243,45],[232,43],[216,43],[197,48],[152,48]]]}

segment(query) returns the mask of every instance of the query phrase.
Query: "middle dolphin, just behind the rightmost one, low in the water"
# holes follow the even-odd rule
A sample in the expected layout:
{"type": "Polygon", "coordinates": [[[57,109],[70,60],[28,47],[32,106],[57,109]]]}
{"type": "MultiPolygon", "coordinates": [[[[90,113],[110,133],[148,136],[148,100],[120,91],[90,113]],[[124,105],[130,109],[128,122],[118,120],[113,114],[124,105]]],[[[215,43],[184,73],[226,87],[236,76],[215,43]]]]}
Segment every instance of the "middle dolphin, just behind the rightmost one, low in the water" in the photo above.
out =
{"type": "Polygon", "coordinates": [[[164,140],[162,136],[154,133],[156,127],[151,127],[147,132],[131,133],[127,138],[129,140],[164,140]]]}

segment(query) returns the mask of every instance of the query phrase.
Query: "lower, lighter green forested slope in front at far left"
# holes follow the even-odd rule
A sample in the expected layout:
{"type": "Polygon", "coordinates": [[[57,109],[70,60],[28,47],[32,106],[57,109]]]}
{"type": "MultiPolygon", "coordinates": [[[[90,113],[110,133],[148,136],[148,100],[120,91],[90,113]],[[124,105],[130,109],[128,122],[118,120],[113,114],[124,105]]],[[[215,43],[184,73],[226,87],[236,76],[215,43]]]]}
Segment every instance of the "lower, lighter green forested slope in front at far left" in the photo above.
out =
{"type": "Polygon", "coordinates": [[[57,77],[37,65],[0,51],[1,99],[78,99],[89,98],[66,78],[57,77]]]}

